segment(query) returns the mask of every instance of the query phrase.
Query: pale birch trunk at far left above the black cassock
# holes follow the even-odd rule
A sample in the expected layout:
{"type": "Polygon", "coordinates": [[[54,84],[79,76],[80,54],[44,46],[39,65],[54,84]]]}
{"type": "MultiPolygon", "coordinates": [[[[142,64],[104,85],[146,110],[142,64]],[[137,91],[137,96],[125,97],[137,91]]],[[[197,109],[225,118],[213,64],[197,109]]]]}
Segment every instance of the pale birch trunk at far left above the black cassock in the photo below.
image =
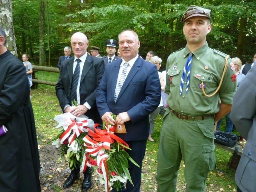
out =
{"type": "Polygon", "coordinates": [[[1,0],[0,6],[0,25],[5,30],[7,43],[6,47],[12,54],[17,56],[17,47],[15,44],[15,35],[12,22],[11,0],[1,0]]]}

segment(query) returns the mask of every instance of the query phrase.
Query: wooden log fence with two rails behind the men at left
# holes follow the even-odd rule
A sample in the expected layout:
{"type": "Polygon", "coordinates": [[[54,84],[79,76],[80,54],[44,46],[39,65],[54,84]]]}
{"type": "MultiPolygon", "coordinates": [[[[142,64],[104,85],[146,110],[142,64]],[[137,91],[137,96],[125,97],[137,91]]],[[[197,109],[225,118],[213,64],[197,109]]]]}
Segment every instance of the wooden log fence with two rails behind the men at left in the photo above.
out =
{"type": "Polygon", "coordinates": [[[45,81],[45,80],[39,80],[35,77],[35,73],[37,71],[47,71],[47,72],[54,72],[54,73],[59,73],[59,69],[57,67],[45,67],[45,66],[37,66],[33,65],[33,73],[32,73],[32,89],[35,89],[38,84],[44,84],[44,85],[51,85],[55,86],[57,82],[53,81],[45,81]]]}

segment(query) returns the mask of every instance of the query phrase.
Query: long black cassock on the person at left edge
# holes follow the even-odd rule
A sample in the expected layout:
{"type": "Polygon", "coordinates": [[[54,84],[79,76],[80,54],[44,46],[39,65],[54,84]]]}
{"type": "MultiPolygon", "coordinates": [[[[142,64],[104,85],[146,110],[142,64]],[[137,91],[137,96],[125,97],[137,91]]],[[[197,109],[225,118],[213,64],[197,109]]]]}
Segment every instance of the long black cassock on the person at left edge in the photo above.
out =
{"type": "Polygon", "coordinates": [[[0,55],[0,191],[40,192],[35,120],[23,63],[9,50],[0,55]]]}

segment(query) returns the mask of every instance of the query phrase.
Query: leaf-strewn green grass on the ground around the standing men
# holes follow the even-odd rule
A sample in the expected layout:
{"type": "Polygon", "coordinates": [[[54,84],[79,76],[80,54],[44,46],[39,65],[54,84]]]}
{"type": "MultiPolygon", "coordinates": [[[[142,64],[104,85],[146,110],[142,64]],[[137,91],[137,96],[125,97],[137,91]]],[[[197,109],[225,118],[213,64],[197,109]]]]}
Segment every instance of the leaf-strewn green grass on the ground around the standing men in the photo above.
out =
{"type": "MultiPolygon", "coordinates": [[[[38,71],[36,76],[40,80],[54,81],[58,80],[58,73],[49,73],[38,71]]],[[[33,99],[31,99],[35,123],[38,132],[39,144],[45,144],[53,139],[57,134],[57,122],[53,118],[62,113],[59,106],[58,99],[55,94],[55,87],[49,85],[39,84],[37,89],[32,90],[33,99]]],[[[162,116],[158,115],[154,133],[152,138],[156,140],[156,143],[148,142],[145,158],[142,167],[142,185],[141,192],[154,192],[157,190],[157,183],[155,176],[157,174],[157,151],[158,141],[160,136],[160,130],[162,126],[162,116]]],[[[221,123],[220,130],[225,130],[225,118],[221,123]]],[[[233,132],[237,133],[237,131],[233,132]]],[[[238,134],[239,135],[239,134],[238,134]]],[[[209,172],[207,178],[207,190],[210,191],[236,191],[236,184],[234,181],[235,170],[228,169],[227,162],[232,156],[232,153],[221,148],[215,148],[216,166],[218,169],[226,171],[226,173],[212,170],[209,172]]],[[[184,179],[184,162],[181,162],[180,170],[178,173],[178,182],[176,191],[186,190],[186,181],[184,179]]],[[[58,187],[56,191],[60,191],[58,187]]],[[[166,191],[167,192],[167,191],[166,191]]]]}

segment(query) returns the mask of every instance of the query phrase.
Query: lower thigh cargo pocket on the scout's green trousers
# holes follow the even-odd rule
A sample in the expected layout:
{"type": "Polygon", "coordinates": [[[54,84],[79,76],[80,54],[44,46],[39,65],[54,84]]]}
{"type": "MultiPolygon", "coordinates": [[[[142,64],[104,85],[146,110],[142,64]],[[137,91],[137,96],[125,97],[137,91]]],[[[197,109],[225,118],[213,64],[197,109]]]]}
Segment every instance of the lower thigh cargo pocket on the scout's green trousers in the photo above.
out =
{"type": "Polygon", "coordinates": [[[207,173],[215,167],[215,145],[203,145],[201,159],[197,168],[197,173],[207,173]]]}

